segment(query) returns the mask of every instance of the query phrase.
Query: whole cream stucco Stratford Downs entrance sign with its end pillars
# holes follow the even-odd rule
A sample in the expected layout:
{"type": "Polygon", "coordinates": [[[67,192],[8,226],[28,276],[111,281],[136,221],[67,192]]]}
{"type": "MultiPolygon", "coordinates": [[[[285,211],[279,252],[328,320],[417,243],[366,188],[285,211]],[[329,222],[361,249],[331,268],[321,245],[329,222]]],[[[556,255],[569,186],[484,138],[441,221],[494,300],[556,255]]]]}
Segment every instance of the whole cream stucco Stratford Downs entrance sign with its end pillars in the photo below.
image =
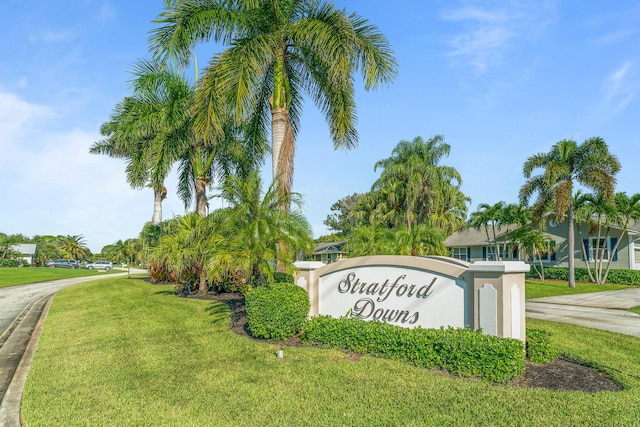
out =
{"type": "Polygon", "coordinates": [[[350,316],[403,327],[482,328],[524,339],[522,262],[469,264],[447,257],[372,256],[325,265],[298,262],[310,315],[350,316]]]}

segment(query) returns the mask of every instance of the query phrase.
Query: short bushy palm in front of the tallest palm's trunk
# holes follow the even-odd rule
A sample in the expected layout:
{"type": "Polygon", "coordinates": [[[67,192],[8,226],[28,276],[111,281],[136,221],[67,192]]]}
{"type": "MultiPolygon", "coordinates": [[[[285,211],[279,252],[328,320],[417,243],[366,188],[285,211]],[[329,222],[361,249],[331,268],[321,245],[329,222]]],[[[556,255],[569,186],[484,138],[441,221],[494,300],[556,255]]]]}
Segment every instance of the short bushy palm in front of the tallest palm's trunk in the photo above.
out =
{"type": "Polygon", "coordinates": [[[311,227],[300,211],[300,197],[290,195],[294,209],[289,212],[279,209],[284,195],[274,183],[262,194],[258,171],[245,178],[230,176],[215,197],[228,206],[212,214],[213,221],[225,230],[225,243],[209,264],[218,279],[238,269],[251,283],[257,283],[263,274],[272,279],[277,245],[283,239],[289,249],[284,258],[289,270],[296,252],[312,249],[311,227]]]}

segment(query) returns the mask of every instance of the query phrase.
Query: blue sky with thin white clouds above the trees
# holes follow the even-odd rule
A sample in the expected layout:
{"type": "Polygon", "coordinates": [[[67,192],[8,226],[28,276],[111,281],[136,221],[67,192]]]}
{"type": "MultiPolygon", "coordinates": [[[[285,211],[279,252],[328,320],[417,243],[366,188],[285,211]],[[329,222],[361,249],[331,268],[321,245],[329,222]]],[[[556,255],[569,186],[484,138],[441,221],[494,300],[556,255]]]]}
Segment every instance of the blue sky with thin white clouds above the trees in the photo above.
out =
{"type": "MultiPolygon", "coordinates": [[[[517,201],[527,157],[565,138],[605,138],[622,163],[617,191],[640,192],[640,4],[637,1],[335,1],[377,25],[399,74],[357,92],[360,143],[334,151],[305,105],[294,189],[314,234],[338,199],[367,191],[400,140],[444,136],[443,164],[479,203],[517,201]]],[[[0,232],[82,234],[99,252],[136,237],[151,190],[124,163],[88,153],[132,64],[148,57],[162,0],[3,0],[0,27],[0,232]]],[[[204,64],[215,46],[198,48],[204,64]]],[[[264,176],[270,179],[271,159],[264,176]]],[[[185,212],[167,182],[164,217],[185,212]]],[[[215,205],[212,205],[215,206],[215,205]]]]}

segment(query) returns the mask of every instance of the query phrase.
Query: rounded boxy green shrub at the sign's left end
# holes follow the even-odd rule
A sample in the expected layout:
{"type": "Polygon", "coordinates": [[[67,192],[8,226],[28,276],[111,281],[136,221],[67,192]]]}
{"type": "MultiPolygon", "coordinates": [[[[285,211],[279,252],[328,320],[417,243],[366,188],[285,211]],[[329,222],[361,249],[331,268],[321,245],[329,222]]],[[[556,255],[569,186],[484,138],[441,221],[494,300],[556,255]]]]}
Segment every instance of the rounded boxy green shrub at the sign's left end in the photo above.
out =
{"type": "Polygon", "coordinates": [[[302,330],[309,308],[309,294],[293,283],[259,286],[245,297],[247,325],[256,338],[293,337],[302,330]]]}

